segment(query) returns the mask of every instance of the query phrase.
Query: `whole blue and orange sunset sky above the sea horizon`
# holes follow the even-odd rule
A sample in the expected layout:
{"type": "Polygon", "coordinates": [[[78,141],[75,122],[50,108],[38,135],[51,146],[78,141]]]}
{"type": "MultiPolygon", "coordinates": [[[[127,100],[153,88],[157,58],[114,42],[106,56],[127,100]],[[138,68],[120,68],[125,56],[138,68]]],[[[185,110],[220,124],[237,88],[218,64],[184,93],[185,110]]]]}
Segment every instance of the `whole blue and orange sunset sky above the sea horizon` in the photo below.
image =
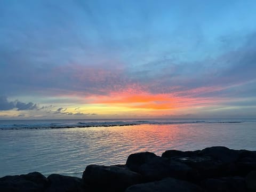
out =
{"type": "Polygon", "coordinates": [[[0,119],[255,118],[255,9],[0,0],[0,119]]]}

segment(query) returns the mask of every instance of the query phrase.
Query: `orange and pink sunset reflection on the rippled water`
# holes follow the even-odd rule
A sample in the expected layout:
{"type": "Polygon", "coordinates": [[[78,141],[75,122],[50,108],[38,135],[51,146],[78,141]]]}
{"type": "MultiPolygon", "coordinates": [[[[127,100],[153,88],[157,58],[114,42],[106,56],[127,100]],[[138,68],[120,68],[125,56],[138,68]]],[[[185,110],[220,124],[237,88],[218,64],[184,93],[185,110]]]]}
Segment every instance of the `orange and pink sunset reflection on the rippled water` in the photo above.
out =
{"type": "MultiPolygon", "coordinates": [[[[82,129],[87,137],[85,142],[90,142],[90,151],[95,154],[115,153],[116,158],[126,159],[132,153],[150,151],[161,155],[165,150],[175,149],[183,134],[188,134],[186,129],[179,125],[134,125],[113,127],[90,127],[82,129]]],[[[76,134],[81,129],[76,130],[76,134]]],[[[83,133],[81,133],[81,136],[83,133]]],[[[102,162],[104,163],[104,162],[102,162]]]]}

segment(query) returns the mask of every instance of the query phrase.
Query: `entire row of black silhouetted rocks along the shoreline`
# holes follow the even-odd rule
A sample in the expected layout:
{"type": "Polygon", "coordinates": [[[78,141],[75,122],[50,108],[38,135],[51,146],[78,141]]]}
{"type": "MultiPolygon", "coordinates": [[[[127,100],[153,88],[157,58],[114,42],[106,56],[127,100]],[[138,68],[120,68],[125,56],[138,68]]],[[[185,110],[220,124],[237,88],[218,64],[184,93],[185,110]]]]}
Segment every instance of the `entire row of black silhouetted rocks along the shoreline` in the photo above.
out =
{"type": "Polygon", "coordinates": [[[256,191],[256,151],[209,147],[131,154],[125,165],[89,165],[83,177],[39,172],[0,178],[0,191],[256,191]]]}

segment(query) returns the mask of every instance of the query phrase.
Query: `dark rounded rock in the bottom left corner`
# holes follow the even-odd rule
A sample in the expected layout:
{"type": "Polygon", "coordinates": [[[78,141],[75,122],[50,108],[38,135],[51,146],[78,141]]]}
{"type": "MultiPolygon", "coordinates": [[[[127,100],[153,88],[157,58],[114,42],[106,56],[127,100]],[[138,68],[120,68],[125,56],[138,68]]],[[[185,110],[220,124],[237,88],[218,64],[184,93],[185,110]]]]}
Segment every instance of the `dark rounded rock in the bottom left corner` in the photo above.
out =
{"type": "Polygon", "coordinates": [[[44,191],[47,186],[46,177],[38,172],[0,178],[1,192],[44,191]]]}

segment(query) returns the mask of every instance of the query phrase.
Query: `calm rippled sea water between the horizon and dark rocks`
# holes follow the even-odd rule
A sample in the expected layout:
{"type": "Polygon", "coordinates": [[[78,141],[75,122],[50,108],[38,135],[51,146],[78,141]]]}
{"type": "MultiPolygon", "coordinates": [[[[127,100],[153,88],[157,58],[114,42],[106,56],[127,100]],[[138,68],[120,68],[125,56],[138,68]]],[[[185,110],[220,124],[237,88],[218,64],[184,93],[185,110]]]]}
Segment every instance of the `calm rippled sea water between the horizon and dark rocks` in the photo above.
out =
{"type": "Polygon", "coordinates": [[[33,171],[82,177],[89,164],[124,164],[132,153],[256,150],[255,138],[255,119],[0,121],[0,177],[33,171]]]}

